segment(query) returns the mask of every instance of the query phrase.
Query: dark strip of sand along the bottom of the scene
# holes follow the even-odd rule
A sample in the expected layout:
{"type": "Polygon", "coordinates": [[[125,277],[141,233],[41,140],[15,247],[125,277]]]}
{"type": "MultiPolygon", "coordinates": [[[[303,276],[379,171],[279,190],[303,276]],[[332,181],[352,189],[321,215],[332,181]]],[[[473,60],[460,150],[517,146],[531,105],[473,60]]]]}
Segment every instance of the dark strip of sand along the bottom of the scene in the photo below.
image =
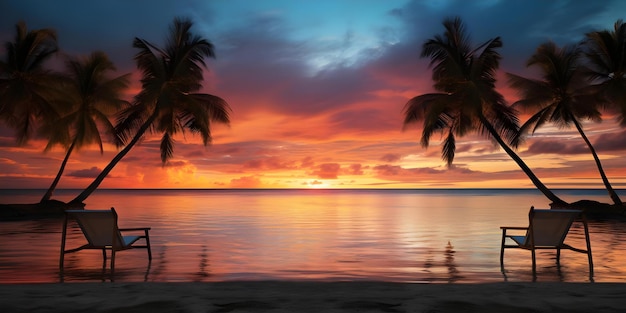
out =
{"type": "Polygon", "coordinates": [[[626,284],[382,282],[0,285],[0,312],[625,312],[626,284]]]}

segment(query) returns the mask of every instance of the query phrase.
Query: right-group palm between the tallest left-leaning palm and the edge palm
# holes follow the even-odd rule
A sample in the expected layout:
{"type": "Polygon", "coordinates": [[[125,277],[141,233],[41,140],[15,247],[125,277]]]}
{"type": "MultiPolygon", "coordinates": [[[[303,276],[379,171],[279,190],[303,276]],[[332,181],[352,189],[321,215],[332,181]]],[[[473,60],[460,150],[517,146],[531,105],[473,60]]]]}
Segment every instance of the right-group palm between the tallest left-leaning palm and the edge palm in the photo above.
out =
{"type": "Polygon", "coordinates": [[[577,45],[559,48],[553,42],[547,42],[540,45],[526,62],[526,66],[536,66],[541,70],[542,80],[507,73],[511,87],[521,94],[521,99],[513,106],[536,110],[522,125],[520,134],[530,131],[531,128],[534,133],[546,122],[561,128],[574,125],[589,147],[611,199],[615,204],[621,204],[622,201],[604,173],[596,150],[583,131],[582,120],[602,120],[599,111],[602,102],[586,88],[588,84],[580,71],[580,56],[581,50],[577,45]]]}

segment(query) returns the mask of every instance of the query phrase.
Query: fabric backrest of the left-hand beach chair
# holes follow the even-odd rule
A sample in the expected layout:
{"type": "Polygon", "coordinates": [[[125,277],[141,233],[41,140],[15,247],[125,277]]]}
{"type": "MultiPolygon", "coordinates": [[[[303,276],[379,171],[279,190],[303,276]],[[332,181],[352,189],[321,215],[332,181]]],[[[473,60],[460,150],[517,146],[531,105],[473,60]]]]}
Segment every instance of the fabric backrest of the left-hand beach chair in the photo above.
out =
{"type": "Polygon", "coordinates": [[[117,213],[111,210],[66,210],[68,218],[76,220],[90,245],[95,247],[123,246],[117,227],[117,213]]]}

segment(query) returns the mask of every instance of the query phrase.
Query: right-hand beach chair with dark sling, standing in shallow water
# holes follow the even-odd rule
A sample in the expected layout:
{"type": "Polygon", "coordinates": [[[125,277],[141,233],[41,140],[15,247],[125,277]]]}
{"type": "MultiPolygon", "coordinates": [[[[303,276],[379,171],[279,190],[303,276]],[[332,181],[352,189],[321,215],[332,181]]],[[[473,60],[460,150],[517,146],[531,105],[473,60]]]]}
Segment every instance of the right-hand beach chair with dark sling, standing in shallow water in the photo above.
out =
{"type": "Polygon", "coordinates": [[[535,250],[555,249],[556,262],[560,264],[561,249],[587,254],[589,259],[589,276],[593,276],[593,259],[591,257],[591,242],[589,241],[589,229],[587,220],[581,210],[537,210],[530,207],[528,213],[528,227],[500,227],[502,229],[502,245],[500,248],[500,267],[504,269],[504,249],[517,248],[530,250],[532,255],[533,274],[536,272],[535,250]],[[563,243],[572,223],[581,217],[585,231],[587,249],[574,248],[563,243]],[[508,230],[525,230],[523,236],[511,235],[508,230]],[[510,239],[510,240],[507,240],[510,239]],[[514,244],[507,244],[513,241],[514,244]]]}

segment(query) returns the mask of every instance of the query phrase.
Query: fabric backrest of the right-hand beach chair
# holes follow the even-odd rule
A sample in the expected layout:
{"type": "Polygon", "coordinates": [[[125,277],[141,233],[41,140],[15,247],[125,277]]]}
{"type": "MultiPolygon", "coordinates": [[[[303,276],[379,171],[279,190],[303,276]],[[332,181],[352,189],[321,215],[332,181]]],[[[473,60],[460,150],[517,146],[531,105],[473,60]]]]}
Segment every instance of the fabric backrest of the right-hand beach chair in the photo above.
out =
{"type": "Polygon", "coordinates": [[[528,214],[530,225],[525,245],[533,243],[536,247],[562,245],[572,223],[581,213],[581,210],[536,210],[531,208],[528,214]]]}

